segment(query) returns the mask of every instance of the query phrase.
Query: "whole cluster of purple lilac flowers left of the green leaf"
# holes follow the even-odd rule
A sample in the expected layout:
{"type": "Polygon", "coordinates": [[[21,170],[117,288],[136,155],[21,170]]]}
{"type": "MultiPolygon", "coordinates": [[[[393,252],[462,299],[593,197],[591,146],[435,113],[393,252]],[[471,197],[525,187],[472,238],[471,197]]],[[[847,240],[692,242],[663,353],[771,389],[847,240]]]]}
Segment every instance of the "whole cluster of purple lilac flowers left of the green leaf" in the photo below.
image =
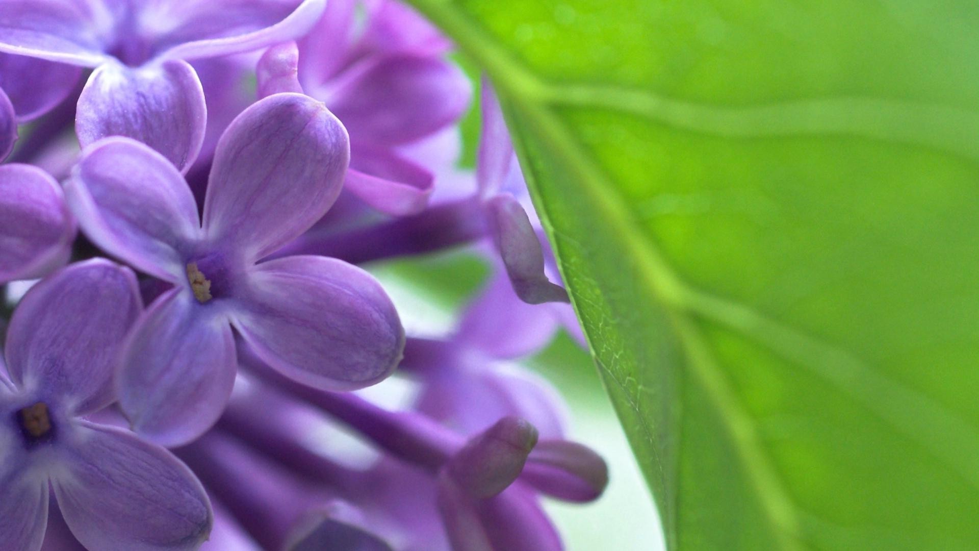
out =
{"type": "Polygon", "coordinates": [[[451,48],[392,0],[0,0],[0,549],[562,548],[542,497],[606,466],[517,361],[582,336],[489,82],[457,167],[451,48]],[[359,267],[467,246],[438,337],[359,267]]]}

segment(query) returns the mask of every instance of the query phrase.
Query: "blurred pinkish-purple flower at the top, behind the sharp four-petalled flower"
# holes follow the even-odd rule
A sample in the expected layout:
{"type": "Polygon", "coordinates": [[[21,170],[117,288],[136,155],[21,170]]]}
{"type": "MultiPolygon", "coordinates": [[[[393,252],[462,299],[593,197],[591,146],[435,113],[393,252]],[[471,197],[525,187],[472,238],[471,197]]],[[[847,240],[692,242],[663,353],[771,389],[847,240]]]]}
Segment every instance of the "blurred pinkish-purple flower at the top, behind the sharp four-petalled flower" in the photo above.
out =
{"type": "Polygon", "coordinates": [[[281,44],[258,62],[258,92],[303,91],[326,103],[350,131],[345,188],[389,215],[422,211],[435,175],[404,146],[457,122],[469,79],[444,59],[450,43],[402,4],[333,0],[299,45],[281,44]]]}

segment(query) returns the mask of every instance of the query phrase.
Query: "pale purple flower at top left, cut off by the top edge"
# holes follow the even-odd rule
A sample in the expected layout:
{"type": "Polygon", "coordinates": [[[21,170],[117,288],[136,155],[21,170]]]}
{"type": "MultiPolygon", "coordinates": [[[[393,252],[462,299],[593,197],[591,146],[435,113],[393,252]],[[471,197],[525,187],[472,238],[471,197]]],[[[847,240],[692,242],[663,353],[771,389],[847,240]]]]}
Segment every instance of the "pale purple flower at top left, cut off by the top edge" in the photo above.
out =
{"type": "Polygon", "coordinates": [[[87,146],[139,139],[179,169],[204,137],[201,82],[185,61],[256,50],[302,35],[324,0],[9,0],[0,2],[0,51],[95,68],[78,99],[87,146]]]}

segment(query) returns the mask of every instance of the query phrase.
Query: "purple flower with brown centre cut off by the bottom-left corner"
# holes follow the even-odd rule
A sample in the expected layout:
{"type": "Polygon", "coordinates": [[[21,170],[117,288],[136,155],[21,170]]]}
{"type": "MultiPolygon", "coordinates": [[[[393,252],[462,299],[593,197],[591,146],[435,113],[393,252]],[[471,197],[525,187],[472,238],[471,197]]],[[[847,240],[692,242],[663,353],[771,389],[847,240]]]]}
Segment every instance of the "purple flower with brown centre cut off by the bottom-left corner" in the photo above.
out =
{"type": "Polygon", "coordinates": [[[90,549],[196,549],[210,531],[200,482],[162,447],[86,421],[115,397],[114,360],[142,310],[136,278],[74,264],[24,296],[0,372],[0,541],[41,547],[49,485],[90,549]]]}

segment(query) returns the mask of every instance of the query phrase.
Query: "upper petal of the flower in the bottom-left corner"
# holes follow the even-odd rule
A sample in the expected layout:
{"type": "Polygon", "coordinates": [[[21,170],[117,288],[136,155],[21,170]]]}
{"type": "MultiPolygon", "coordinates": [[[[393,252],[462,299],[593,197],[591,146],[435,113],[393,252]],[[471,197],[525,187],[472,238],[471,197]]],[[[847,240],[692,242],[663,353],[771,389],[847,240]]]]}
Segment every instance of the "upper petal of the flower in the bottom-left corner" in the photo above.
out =
{"type": "Polygon", "coordinates": [[[24,295],[7,330],[10,375],[72,413],[105,407],[120,343],[141,310],[130,270],[103,259],[72,264],[24,295]]]}

